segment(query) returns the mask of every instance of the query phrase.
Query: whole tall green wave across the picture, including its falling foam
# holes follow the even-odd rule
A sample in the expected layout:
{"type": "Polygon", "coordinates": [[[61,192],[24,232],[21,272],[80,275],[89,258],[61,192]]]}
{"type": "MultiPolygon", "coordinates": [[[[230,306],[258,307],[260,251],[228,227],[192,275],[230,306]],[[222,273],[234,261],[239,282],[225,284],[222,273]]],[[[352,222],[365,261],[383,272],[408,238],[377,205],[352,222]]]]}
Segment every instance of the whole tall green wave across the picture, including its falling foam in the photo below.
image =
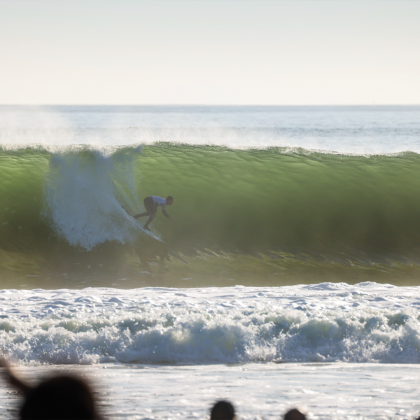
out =
{"type": "Polygon", "coordinates": [[[364,157],[160,143],[142,153],[3,150],[0,163],[1,265],[9,277],[51,272],[51,280],[66,268],[66,281],[74,283],[92,277],[91,261],[140,285],[229,278],[412,283],[418,275],[414,153],[364,157]],[[146,196],[175,198],[167,207],[175,222],[159,210],[151,225],[165,244],[133,224],[112,181],[139,212],[146,196]]]}

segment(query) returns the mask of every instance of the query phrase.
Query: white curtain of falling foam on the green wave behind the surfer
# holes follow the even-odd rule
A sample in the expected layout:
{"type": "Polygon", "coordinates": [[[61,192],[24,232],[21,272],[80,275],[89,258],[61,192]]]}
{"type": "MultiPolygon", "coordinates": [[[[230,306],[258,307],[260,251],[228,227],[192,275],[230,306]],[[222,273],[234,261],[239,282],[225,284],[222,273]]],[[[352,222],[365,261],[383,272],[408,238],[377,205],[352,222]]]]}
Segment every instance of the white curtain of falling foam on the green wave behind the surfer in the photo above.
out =
{"type": "Polygon", "coordinates": [[[112,184],[113,179],[123,179],[140,210],[140,180],[135,174],[140,153],[141,147],[127,154],[69,151],[51,155],[44,184],[44,216],[69,244],[90,250],[106,241],[125,243],[141,231],[116,199],[112,184]]]}

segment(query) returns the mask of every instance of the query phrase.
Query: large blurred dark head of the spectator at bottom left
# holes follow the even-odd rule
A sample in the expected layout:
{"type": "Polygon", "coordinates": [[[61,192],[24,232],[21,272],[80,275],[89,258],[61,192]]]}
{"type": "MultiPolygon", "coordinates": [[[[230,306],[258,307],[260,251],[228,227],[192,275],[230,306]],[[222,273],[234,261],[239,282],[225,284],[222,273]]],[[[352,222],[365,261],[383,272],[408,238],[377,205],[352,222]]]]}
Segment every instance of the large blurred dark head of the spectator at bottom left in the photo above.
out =
{"type": "Polygon", "coordinates": [[[41,382],[20,409],[22,420],[98,418],[89,385],[74,376],[56,376],[41,382]]]}

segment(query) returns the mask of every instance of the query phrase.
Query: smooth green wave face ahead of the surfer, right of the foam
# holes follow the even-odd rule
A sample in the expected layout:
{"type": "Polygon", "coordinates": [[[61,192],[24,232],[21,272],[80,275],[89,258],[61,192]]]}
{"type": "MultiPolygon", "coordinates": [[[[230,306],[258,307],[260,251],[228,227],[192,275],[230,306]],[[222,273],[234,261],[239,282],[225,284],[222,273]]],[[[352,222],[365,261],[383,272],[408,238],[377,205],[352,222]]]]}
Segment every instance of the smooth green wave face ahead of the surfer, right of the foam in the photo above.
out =
{"type": "Polygon", "coordinates": [[[185,247],[404,254],[420,244],[415,154],[155,146],[142,160],[142,190],[176,198],[167,238],[185,247]]]}

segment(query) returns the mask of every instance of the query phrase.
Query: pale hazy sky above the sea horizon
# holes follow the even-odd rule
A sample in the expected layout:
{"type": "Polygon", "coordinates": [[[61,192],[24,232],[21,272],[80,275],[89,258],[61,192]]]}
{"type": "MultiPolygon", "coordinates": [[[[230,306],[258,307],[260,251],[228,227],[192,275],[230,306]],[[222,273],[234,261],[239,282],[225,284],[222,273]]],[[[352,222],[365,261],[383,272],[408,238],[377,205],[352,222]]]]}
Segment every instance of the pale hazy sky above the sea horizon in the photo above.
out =
{"type": "Polygon", "coordinates": [[[420,104],[417,0],[0,0],[0,104],[420,104]]]}

